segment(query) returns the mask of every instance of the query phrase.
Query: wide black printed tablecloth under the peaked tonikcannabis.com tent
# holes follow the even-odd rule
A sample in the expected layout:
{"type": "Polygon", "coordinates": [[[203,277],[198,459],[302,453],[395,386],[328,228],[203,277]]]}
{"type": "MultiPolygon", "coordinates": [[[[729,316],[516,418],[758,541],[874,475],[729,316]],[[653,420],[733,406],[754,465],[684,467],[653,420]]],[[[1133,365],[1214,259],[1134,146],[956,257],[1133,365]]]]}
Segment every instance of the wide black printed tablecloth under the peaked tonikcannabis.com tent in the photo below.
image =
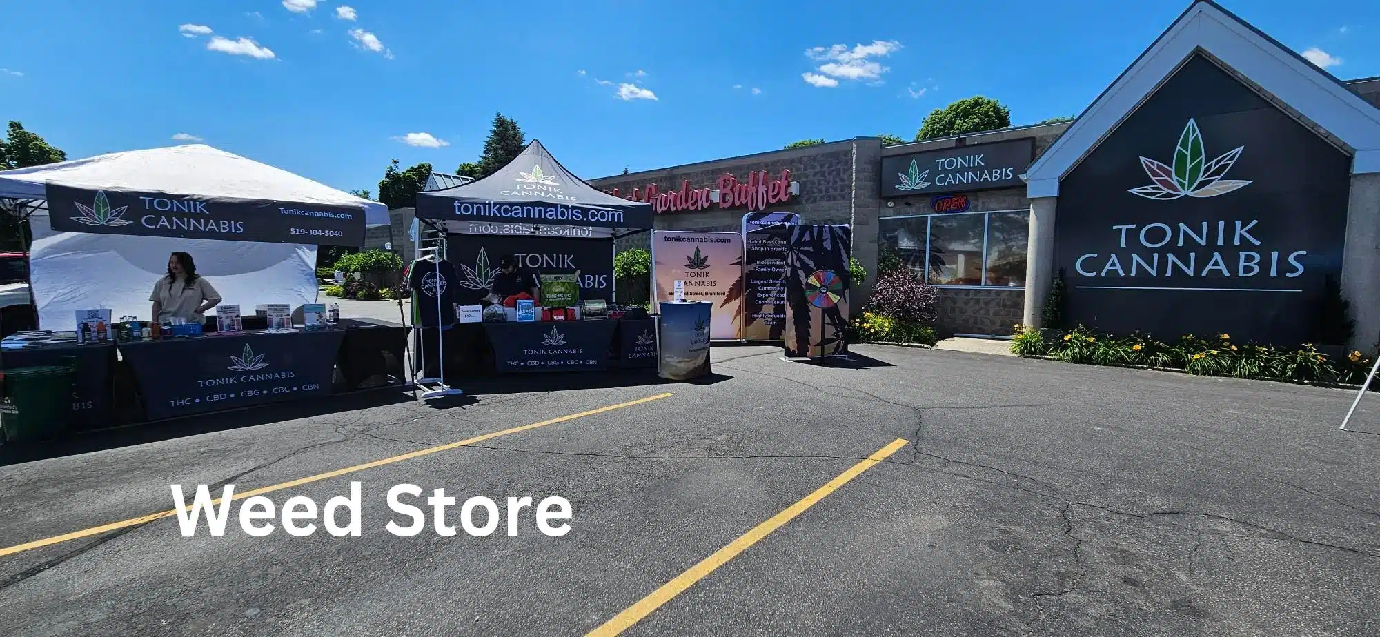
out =
{"type": "Polygon", "coordinates": [[[618,321],[483,323],[500,374],[591,371],[609,364],[618,321]]]}

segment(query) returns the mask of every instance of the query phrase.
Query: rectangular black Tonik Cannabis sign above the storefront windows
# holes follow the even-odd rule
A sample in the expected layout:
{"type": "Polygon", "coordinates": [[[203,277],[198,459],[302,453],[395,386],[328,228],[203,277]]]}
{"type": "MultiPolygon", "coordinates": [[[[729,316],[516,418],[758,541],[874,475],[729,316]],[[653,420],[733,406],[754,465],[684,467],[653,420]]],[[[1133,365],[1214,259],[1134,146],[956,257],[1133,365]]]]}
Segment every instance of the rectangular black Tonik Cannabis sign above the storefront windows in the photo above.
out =
{"type": "Polygon", "coordinates": [[[1035,138],[882,157],[882,197],[1023,186],[1035,138]]]}

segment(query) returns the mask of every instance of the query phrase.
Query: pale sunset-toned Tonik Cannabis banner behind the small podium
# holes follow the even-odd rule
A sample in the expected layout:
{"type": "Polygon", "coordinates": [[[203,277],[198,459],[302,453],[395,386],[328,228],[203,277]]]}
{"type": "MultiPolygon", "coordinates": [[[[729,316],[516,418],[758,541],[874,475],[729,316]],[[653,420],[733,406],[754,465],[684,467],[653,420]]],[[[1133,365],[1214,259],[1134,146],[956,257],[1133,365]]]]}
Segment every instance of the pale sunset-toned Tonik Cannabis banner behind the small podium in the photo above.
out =
{"type": "Polygon", "coordinates": [[[651,233],[653,298],[672,301],[684,281],[686,301],[713,305],[709,338],[741,338],[742,237],[731,232],[656,230],[651,233]]]}

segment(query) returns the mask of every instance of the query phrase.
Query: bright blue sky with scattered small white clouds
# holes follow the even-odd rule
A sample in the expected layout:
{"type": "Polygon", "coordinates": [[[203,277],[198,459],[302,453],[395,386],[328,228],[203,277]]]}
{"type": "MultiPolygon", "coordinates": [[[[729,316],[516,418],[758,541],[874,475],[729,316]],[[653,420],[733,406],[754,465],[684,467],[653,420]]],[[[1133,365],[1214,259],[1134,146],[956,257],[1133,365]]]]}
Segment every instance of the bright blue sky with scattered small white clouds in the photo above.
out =
{"type": "MultiPolygon", "coordinates": [[[[69,157],[189,135],[377,190],[392,159],[475,160],[502,112],[592,179],[803,138],[909,139],[972,95],[1016,124],[1076,114],[1188,6],[1112,4],[10,3],[0,18],[23,28],[0,39],[0,119],[69,157]]],[[[1224,6],[1339,77],[1380,76],[1380,3],[1224,6]]]]}

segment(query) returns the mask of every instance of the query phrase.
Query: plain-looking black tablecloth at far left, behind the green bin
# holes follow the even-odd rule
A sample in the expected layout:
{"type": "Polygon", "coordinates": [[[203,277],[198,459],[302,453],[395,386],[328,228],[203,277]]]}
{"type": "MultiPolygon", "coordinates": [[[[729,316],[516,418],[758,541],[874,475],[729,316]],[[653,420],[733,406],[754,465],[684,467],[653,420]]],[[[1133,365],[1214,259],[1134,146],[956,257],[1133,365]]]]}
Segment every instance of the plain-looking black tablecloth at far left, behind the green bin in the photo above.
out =
{"type": "Polygon", "coordinates": [[[68,425],[92,429],[115,425],[110,398],[115,370],[115,343],[48,345],[34,349],[0,352],[0,368],[15,370],[33,365],[62,365],[62,357],[73,356],[77,378],[72,386],[72,418],[68,425]]]}

